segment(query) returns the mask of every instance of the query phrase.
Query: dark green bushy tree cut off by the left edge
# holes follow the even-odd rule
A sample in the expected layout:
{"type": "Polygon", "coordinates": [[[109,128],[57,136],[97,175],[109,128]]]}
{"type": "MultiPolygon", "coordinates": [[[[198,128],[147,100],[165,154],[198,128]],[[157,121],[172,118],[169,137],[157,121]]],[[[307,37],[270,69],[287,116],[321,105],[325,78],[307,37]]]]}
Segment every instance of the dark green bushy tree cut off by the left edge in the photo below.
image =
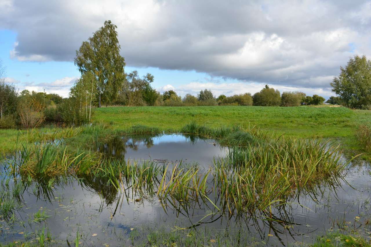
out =
{"type": "Polygon", "coordinates": [[[17,89],[13,84],[0,82],[0,119],[17,111],[17,89]]]}

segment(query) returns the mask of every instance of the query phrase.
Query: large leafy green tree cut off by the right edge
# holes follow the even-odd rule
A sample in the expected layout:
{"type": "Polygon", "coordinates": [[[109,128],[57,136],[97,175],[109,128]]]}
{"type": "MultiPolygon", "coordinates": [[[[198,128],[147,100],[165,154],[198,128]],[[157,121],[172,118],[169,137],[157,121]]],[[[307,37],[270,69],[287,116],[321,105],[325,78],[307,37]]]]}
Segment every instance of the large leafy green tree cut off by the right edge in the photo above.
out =
{"type": "Polygon", "coordinates": [[[371,61],[366,56],[351,57],[330,85],[346,106],[367,109],[371,106],[371,61]]]}

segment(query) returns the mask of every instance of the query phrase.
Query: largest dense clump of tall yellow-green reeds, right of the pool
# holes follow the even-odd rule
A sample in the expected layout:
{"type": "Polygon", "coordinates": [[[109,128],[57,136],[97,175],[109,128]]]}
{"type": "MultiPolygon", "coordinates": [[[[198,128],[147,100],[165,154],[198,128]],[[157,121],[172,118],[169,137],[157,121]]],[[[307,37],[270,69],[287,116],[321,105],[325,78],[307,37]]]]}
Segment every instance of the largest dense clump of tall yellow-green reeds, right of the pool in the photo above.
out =
{"type": "Polygon", "coordinates": [[[321,139],[278,138],[232,149],[228,157],[215,161],[214,192],[230,213],[264,211],[285,203],[298,189],[341,175],[348,163],[341,162],[339,146],[321,139]]]}

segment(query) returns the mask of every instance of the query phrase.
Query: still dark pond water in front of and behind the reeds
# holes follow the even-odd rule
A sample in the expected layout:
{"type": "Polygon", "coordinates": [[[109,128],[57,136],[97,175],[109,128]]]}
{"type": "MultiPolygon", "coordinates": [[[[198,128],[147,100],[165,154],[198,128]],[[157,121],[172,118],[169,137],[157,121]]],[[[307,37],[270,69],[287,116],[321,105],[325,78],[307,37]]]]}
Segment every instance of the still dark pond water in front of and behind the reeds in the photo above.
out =
{"type": "MultiPolygon", "coordinates": [[[[99,146],[99,151],[127,159],[174,163],[182,160],[207,167],[215,157],[227,153],[226,148],[214,144],[211,139],[181,135],[135,135],[117,137],[99,146]]],[[[344,180],[302,192],[283,210],[273,210],[273,217],[277,219],[273,222],[263,220],[264,215],[260,213],[239,217],[221,215],[208,203],[187,205],[173,200],[160,201],[155,196],[137,201],[139,195],[121,194],[111,186],[103,186],[106,181],[94,177],[33,182],[23,192],[23,207],[14,212],[18,221],[13,225],[2,221],[0,237],[3,242],[25,238],[35,241],[32,233],[47,227],[62,246],[67,240],[72,245],[77,230],[83,233],[83,246],[122,246],[130,245],[130,233],[142,227],[165,227],[171,231],[193,226],[242,230],[252,243],[268,246],[311,243],[316,236],[339,228],[357,230],[367,238],[371,234],[365,224],[371,217],[370,181],[369,164],[352,164],[344,180]],[[37,211],[45,211],[50,218],[41,223],[30,222],[37,211]],[[97,236],[92,236],[95,234],[97,236]]],[[[141,235],[145,234],[140,231],[141,235]]]]}

